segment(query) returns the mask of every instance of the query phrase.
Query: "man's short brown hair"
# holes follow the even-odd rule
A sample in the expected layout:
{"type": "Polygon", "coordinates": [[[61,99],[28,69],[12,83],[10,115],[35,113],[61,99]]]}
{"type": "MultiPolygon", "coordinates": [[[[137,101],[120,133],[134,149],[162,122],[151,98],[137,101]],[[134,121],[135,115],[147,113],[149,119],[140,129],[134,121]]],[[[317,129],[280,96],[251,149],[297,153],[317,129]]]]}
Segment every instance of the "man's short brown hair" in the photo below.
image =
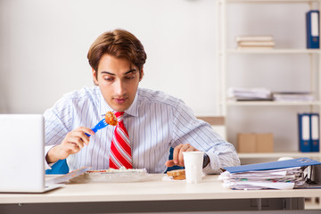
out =
{"type": "Polygon", "coordinates": [[[95,70],[96,77],[99,62],[106,53],[116,58],[127,59],[138,67],[141,75],[147,55],[142,43],[127,30],[115,29],[104,32],[90,46],[87,58],[90,66],[95,70]]]}

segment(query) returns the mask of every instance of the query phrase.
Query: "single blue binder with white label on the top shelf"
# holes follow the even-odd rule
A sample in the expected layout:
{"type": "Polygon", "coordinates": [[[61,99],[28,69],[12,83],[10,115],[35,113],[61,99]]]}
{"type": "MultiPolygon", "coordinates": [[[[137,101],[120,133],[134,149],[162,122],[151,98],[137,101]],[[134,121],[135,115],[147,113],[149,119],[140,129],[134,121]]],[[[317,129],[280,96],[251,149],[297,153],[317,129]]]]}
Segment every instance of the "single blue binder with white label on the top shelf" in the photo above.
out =
{"type": "Polygon", "coordinates": [[[319,11],[312,10],[306,13],[307,25],[307,48],[319,48],[320,29],[319,29],[319,11]]]}

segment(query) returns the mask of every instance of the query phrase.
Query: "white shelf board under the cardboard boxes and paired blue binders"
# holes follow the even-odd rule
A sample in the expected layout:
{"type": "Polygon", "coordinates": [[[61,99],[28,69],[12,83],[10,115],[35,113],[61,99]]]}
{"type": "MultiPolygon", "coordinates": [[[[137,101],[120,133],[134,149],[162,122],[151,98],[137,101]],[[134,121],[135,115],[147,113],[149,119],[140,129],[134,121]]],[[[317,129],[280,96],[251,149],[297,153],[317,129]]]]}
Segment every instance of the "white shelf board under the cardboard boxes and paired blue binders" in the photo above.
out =
{"type": "Polygon", "coordinates": [[[240,159],[268,159],[268,158],[321,158],[319,152],[268,152],[268,153],[237,153],[240,159]]]}

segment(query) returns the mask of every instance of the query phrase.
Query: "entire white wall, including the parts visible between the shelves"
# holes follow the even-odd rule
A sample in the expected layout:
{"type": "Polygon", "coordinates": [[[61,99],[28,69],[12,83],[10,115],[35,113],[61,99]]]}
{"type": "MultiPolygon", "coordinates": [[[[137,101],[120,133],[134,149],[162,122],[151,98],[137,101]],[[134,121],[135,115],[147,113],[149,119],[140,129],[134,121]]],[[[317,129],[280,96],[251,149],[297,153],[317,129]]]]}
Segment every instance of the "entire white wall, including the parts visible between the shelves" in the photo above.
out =
{"type": "MultiPolygon", "coordinates": [[[[272,34],[277,47],[305,46],[305,4],[230,9],[230,47],[241,34],[272,34]]],[[[215,115],[215,12],[215,0],[2,0],[0,113],[42,113],[62,94],[92,86],[89,46],[103,31],[122,28],[140,38],[147,53],[141,86],[182,98],[196,115],[215,115]]],[[[268,57],[279,61],[232,57],[228,85],[309,88],[307,56],[268,57]]],[[[296,111],[305,110],[233,107],[228,138],[235,144],[237,132],[272,131],[278,137],[276,150],[295,151],[296,111]],[[282,128],[276,128],[280,118],[282,128]]]]}

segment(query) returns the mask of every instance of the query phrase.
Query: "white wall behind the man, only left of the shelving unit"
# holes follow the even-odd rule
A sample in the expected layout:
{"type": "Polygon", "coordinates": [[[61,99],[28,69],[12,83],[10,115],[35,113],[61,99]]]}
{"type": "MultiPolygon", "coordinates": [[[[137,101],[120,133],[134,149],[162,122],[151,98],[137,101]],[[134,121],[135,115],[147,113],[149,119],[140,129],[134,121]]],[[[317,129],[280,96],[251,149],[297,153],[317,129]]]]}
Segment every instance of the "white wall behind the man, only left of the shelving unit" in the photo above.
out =
{"type": "Polygon", "coordinates": [[[212,0],[0,1],[0,111],[41,113],[62,94],[92,86],[89,46],[122,28],[147,53],[142,87],[213,115],[214,11],[212,0]]]}

